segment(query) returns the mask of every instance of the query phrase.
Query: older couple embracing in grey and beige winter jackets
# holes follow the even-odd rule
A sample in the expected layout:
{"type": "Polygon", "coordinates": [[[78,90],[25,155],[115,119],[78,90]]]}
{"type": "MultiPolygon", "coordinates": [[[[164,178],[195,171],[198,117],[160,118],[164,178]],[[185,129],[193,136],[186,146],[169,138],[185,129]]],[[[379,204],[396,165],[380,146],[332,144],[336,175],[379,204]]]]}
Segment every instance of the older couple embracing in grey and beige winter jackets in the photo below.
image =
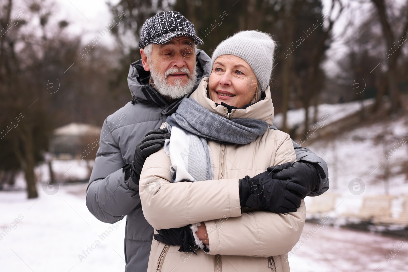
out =
{"type": "Polygon", "coordinates": [[[273,126],[269,35],[236,33],[211,59],[199,44],[180,13],[146,20],[133,100],[104,122],[86,205],[127,216],[126,272],[289,271],[326,163],[273,126]]]}

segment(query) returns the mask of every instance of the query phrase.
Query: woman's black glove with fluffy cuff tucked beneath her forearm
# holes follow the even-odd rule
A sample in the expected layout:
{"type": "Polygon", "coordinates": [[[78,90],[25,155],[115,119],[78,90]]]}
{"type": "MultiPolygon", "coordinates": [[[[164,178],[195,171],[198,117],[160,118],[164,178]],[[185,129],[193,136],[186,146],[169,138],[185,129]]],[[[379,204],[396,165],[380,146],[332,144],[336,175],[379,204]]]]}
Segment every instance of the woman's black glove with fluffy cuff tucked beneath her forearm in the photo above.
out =
{"type": "Polygon", "coordinates": [[[193,231],[190,226],[156,230],[158,233],[154,234],[154,239],[166,245],[180,245],[179,251],[181,252],[195,253],[194,250],[198,250],[199,247],[195,245],[193,231]]]}

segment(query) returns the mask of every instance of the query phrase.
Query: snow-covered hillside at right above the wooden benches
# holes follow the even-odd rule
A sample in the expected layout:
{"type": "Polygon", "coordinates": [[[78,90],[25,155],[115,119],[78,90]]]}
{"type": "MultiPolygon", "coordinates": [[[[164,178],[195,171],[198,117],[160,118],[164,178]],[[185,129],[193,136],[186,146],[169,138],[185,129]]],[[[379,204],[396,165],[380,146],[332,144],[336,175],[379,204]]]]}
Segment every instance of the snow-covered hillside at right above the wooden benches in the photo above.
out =
{"type": "MultiPolygon", "coordinates": [[[[384,195],[387,190],[396,197],[392,206],[393,217],[399,215],[401,197],[408,195],[408,176],[402,171],[408,162],[408,143],[404,144],[404,141],[408,141],[408,116],[390,117],[384,122],[346,132],[334,141],[321,140],[308,146],[328,165],[328,192],[339,194],[338,208],[333,215],[339,217],[344,212],[357,212],[364,197],[384,195]],[[386,135],[386,141],[377,143],[381,135],[386,135]],[[391,174],[385,175],[387,168],[391,174]],[[388,177],[388,183],[384,175],[388,177]],[[361,179],[365,186],[360,195],[349,190],[353,179],[361,179]]],[[[307,205],[310,198],[305,201],[307,205]]]]}

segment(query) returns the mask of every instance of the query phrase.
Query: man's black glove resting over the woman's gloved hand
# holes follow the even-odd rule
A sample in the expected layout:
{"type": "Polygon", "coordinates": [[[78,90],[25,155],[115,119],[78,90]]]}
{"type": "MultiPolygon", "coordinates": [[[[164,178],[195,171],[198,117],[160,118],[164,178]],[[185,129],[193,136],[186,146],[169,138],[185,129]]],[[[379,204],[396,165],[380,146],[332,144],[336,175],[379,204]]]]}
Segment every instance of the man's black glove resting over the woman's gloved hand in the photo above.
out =
{"type": "Polygon", "coordinates": [[[274,179],[286,180],[306,188],[306,193],[299,195],[304,199],[311,192],[319,189],[320,176],[314,163],[303,161],[287,162],[268,168],[274,179]]]}

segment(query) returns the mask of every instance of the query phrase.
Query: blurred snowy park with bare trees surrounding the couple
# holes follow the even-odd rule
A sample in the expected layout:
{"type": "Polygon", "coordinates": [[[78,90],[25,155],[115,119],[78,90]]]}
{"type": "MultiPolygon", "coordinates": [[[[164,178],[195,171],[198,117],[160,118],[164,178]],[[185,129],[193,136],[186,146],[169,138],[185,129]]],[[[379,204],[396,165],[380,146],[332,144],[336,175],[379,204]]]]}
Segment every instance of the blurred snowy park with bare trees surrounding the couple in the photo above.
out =
{"type": "Polygon", "coordinates": [[[95,219],[86,186],[102,122],[132,99],[140,28],[164,10],[195,24],[208,55],[241,30],[277,41],[275,125],[330,173],[330,189],[306,197],[291,271],[407,271],[407,0],[0,6],[0,271],[124,270],[125,223],[95,219]]]}

